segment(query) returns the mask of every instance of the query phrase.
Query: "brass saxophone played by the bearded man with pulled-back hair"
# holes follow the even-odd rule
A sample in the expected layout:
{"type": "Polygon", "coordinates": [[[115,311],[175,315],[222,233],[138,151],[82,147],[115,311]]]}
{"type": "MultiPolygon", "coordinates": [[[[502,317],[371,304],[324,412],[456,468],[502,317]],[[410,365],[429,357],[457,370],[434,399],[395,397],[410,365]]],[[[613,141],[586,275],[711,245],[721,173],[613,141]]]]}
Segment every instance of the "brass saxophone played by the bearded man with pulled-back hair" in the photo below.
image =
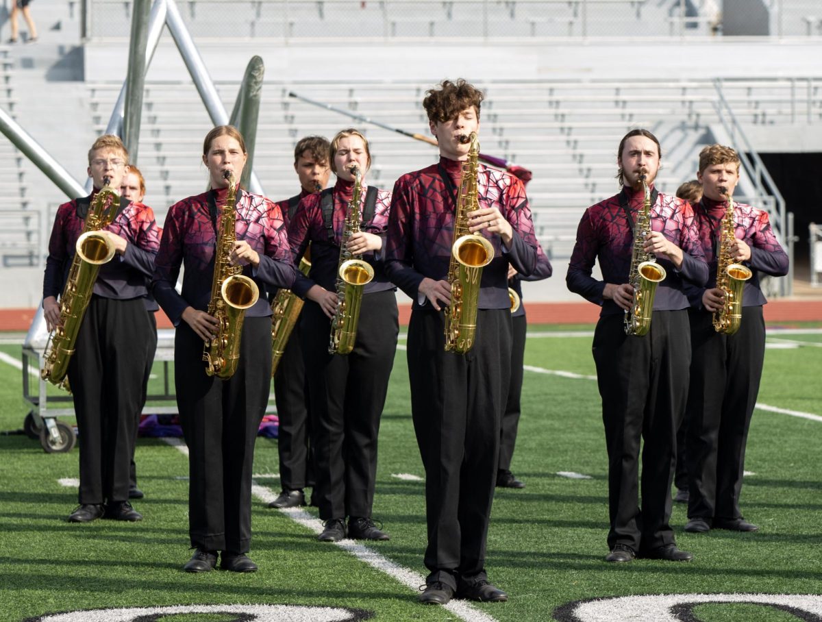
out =
{"type": "Polygon", "coordinates": [[[641,337],[651,329],[653,297],[657,284],[665,279],[665,269],[656,262],[656,257],[644,251],[645,236],[651,230],[651,190],[645,183],[646,175],[640,175],[644,192],[642,210],[636,214],[634,224],[634,253],[630,258],[628,283],[634,288],[634,302],[630,311],[625,312],[625,334],[641,337]]]}

